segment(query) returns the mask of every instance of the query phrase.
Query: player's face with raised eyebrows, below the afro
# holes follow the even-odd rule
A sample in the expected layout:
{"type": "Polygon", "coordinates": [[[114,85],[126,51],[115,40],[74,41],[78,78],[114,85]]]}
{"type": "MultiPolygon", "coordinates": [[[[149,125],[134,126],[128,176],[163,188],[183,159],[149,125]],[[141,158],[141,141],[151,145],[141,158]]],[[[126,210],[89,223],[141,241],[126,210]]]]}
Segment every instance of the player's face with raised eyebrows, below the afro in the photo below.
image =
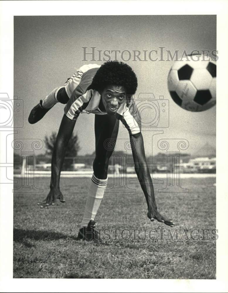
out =
{"type": "Polygon", "coordinates": [[[107,86],[101,92],[103,106],[108,115],[115,115],[120,105],[126,101],[126,91],[123,86],[107,86]]]}

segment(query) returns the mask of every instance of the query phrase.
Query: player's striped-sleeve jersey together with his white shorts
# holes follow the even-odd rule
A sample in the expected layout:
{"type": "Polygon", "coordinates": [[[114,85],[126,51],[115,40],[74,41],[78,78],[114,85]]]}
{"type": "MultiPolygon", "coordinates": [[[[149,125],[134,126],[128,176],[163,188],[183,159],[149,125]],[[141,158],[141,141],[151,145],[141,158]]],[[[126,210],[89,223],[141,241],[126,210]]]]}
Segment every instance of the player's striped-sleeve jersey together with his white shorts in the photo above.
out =
{"type": "MultiPolygon", "coordinates": [[[[91,88],[94,75],[99,69],[97,64],[80,67],[65,83],[69,101],[64,108],[65,115],[71,120],[77,120],[80,113],[108,115],[99,109],[101,95],[91,88]]],[[[140,132],[140,116],[132,97],[127,103],[120,105],[116,118],[121,120],[130,134],[140,132]]]]}

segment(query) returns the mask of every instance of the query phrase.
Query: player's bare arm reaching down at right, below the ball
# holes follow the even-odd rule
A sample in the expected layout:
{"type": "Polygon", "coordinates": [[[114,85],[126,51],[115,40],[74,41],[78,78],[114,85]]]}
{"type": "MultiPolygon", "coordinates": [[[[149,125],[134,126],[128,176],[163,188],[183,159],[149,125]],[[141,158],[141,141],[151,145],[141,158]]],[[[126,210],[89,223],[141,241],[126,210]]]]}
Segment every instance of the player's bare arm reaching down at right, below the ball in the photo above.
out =
{"type": "Polygon", "coordinates": [[[135,163],[135,172],[137,174],[139,183],[147,201],[147,216],[151,221],[154,221],[154,219],[156,219],[159,222],[163,222],[164,224],[173,227],[173,222],[171,220],[165,219],[157,211],[157,205],[154,196],[154,187],[146,162],[142,133],[139,132],[137,134],[130,134],[130,140],[132,141],[131,145],[132,155],[135,163]]]}

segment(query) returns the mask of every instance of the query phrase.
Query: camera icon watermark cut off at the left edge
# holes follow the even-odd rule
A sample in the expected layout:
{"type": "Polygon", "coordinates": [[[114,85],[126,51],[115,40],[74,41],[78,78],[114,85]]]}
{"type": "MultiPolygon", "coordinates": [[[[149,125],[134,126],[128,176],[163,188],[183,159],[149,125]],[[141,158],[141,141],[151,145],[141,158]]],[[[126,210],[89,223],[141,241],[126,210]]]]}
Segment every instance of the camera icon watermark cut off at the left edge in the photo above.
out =
{"type": "Polygon", "coordinates": [[[23,100],[14,96],[10,99],[7,93],[0,93],[0,127],[13,127],[13,121],[16,123],[14,127],[23,127],[23,100]]]}

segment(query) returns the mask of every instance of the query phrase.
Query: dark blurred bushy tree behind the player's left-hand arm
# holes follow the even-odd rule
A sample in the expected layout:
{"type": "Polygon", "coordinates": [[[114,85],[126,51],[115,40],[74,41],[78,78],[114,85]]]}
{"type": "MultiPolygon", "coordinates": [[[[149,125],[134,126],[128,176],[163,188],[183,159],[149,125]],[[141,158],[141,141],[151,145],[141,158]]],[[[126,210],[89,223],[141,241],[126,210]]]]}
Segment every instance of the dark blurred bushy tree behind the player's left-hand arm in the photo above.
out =
{"type": "MultiPolygon", "coordinates": [[[[52,151],[56,142],[57,133],[52,132],[52,134],[48,137],[47,135],[44,138],[44,143],[46,147],[45,154],[52,155],[52,151]]],[[[67,145],[65,159],[63,162],[62,170],[72,170],[72,164],[74,163],[74,159],[76,158],[78,152],[80,150],[79,140],[77,134],[72,134],[69,143],[67,145]]]]}

